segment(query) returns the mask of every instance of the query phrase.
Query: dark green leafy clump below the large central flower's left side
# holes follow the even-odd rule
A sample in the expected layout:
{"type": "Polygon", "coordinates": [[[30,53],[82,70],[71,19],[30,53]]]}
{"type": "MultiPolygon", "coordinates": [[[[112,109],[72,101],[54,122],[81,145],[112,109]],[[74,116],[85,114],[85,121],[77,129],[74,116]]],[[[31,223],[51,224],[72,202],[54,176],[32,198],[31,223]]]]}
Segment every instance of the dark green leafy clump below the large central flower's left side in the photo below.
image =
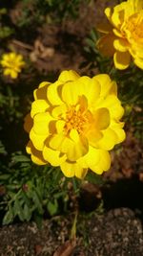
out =
{"type": "MultiPolygon", "coordinates": [[[[5,152],[5,151],[4,151],[5,152]]],[[[4,193],[0,205],[5,206],[3,224],[18,217],[20,221],[58,214],[59,201],[66,210],[67,182],[62,172],[51,166],[38,167],[22,152],[11,154],[8,167],[1,165],[0,188],[4,193]]]]}

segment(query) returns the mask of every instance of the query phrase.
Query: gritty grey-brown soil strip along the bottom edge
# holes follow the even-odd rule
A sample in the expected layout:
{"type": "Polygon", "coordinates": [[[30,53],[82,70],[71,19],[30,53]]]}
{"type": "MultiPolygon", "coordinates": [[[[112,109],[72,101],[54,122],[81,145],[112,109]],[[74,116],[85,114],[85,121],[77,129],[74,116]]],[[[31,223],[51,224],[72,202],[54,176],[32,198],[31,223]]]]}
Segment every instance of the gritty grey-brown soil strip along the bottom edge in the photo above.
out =
{"type": "Polygon", "coordinates": [[[35,223],[12,224],[0,230],[0,255],[42,256],[142,256],[141,221],[129,208],[116,208],[104,215],[79,218],[80,232],[70,241],[71,220],[56,217],[35,223]],[[82,231],[84,230],[84,235],[82,231]]]}

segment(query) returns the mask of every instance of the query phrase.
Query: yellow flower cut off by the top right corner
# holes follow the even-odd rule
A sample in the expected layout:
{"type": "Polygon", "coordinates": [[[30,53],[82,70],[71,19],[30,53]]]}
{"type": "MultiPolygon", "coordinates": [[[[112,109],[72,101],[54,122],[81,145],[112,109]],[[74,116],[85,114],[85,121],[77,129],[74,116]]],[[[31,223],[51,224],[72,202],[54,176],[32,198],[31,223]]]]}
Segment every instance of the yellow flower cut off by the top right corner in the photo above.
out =
{"type": "Polygon", "coordinates": [[[143,69],[143,0],[128,0],[107,8],[110,23],[99,29],[105,35],[97,47],[105,56],[113,56],[117,69],[126,69],[131,61],[143,69]]]}

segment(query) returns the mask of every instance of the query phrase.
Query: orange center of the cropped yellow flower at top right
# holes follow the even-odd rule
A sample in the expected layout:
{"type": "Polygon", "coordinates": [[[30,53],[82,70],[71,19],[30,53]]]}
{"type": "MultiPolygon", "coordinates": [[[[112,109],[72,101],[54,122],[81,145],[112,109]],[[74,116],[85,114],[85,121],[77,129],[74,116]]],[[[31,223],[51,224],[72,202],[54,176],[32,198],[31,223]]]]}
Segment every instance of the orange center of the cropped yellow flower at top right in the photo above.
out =
{"type": "Polygon", "coordinates": [[[122,28],[123,35],[136,43],[143,43],[143,12],[137,12],[129,17],[122,28]]]}

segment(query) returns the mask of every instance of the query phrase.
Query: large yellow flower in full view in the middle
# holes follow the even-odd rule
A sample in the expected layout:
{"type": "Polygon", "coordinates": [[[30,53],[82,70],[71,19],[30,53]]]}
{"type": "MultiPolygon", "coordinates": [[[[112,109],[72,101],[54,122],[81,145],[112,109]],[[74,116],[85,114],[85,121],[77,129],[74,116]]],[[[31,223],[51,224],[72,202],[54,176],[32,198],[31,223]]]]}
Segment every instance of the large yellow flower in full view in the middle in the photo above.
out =
{"type": "Polygon", "coordinates": [[[68,177],[82,178],[89,168],[99,175],[109,170],[109,151],[125,139],[115,81],[106,74],[91,79],[63,71],[57,81],[40,83],[33,95],[25,129],[34,163],[60,166],[68,177]]]}

